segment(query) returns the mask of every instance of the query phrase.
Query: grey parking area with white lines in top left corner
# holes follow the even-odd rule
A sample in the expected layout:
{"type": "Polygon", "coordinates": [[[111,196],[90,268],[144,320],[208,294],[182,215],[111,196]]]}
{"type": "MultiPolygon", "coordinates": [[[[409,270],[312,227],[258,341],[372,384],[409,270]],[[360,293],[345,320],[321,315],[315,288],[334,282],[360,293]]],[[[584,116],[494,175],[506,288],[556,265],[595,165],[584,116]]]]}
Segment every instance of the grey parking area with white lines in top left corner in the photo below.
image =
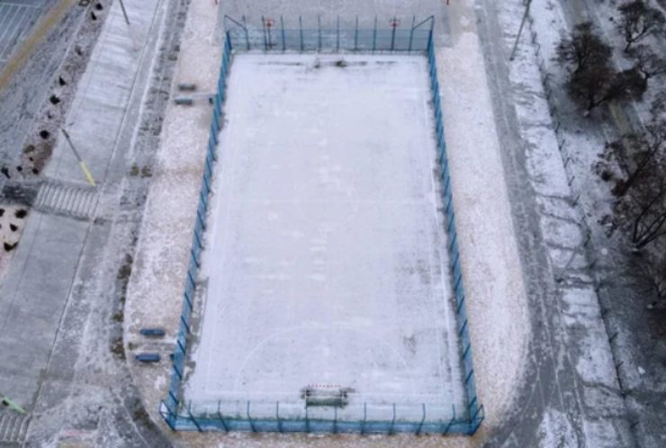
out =
{"type": "Polygon", "coordinates": [[[40,18],[49,0],[0,0],[0,67],[40,18]]]}

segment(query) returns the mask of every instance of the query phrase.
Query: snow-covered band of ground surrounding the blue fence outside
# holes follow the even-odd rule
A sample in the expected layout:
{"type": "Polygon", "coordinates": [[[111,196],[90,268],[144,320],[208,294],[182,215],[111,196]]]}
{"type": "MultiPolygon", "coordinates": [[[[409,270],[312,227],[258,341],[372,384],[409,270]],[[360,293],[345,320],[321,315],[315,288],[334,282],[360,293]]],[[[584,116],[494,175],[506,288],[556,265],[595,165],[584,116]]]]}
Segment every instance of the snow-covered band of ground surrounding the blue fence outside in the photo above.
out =
{"type": "MultiPolygon", "coordinates": [[[[269,3],[274,4],[275,11],[284,9],[280,2],[269,3]]],[[[403,12],[436,13],[437,41],[446,42],[445,47],[437,49],[438,70],[454,176],[474,368],[486,420],[472,438],[173,434],[172,440],[179,446],[478,446],[496,428],[505,424],[514,426],[513,422],[506,422],[506,413],[524,376],[530,338],[529,309],[473,2],[455,2],[450,6],[436,0],[386,3],[366,5],[359,13],[372,17],[374,13],[384,14],[395,8],[403,12]]],[[[234,16],[247,8],[257,12],[266,7],[274,11],[270,5],[260,8],[255,4],[229,2],[220,6],[226,7],[222,13],[234,16]]],[[[290,5],[294,10],[299,6],[290,5]]],[[[353,4],[356,6],[359,5],[353,4]]],[[[340,13],[350,7],[352,4],[346,1],[307,5],[311,10],[340,13]]],[[[216,23],[210,8],[204,1],[192,4],[174,81],[174,84],[196,82],[202,92],[212,91],[220,64],[220,43],[216,43],[217,47],[211,45],[216,23]]],[[[356,13],[355,9],[350,11],[356,13]]],[[[205,102],[197,101],[192,108],[170,104],[166,110],[159,166],[148,195],[125,309],[125,340],[132,351],[157,350],[166,357],[173,349],[163,342],[146,341],[139,336],[139,328],[163,325],[168,335],[164,342],[173,344],[210,120],[210,107],[205,102]]],[[[168,364],[146,368],[130,363],[132,378],[156,421],[160,419],[157,404],[166,396],[168,364]]]]}

